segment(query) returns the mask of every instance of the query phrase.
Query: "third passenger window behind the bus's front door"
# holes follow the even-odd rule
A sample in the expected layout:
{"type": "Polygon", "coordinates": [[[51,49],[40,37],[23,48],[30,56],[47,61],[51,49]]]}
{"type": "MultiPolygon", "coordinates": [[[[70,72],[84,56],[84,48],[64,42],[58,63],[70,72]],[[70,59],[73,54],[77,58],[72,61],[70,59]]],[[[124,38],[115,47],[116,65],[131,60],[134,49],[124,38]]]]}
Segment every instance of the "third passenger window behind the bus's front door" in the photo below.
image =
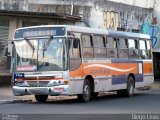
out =
{"type": "Polygon", "coordinates": [[[115,38],[107,37],[106,48],[107,48],[107,58],[117,58],[118,57],[117,42],[115,38]]]}

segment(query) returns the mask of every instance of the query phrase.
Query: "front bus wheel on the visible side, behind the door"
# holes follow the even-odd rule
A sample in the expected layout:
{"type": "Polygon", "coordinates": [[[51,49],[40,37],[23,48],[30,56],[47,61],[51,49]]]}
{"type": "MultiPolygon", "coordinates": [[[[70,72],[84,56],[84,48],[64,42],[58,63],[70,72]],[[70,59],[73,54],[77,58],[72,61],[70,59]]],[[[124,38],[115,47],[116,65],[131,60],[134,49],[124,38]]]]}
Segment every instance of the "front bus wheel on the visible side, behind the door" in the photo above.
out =
{"type": "Polygon", "coordinates": [[[91,85],[88,79],[83,83],[83,93],[77,95],[78,100],[81,102],[88,102],[91,99],[91,85]]]}

